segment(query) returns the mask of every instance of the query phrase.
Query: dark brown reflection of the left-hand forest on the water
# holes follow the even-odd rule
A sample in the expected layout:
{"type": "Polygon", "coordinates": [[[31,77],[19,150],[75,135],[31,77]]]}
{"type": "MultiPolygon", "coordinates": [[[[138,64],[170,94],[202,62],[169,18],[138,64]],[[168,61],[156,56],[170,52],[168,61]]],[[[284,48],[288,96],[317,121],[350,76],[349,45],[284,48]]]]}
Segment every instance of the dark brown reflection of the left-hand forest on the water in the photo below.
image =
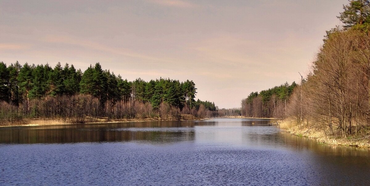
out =
{"type": "Polygon", "coordinates": [[[0,143],[76,143],[148,141],[176,142],[194,139],[194,122],[129,122],[88,125],[31,126],[0,129],[0,143]],[[175,130],[164,130],[174,128],[175,130]],[[184,128],[184,129],[181,129],[184,128]],[[156,130],[159,129],[159,130],[156,130]]]}

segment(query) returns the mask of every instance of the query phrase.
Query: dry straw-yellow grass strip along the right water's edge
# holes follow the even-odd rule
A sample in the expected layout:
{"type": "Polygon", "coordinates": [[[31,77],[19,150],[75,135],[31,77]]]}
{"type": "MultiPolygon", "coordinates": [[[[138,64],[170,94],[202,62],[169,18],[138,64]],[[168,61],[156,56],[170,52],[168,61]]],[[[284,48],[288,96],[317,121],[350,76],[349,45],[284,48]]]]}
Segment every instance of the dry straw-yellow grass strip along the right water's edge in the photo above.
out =
{"type": "Polygon", "coordinates": [[[327,136],[323,131],[319,131],[314,128],[298,128],[295,124],[282,120],[279,122],[279,128],[286,129],[291,135],[314,138],[318,143],[324,143],[329,145],[343,145],[343,146],[354,146],[359,148],[370,148],[369,138],[351,140],[346,138],[341,138],[339,136],[327,136]]]}

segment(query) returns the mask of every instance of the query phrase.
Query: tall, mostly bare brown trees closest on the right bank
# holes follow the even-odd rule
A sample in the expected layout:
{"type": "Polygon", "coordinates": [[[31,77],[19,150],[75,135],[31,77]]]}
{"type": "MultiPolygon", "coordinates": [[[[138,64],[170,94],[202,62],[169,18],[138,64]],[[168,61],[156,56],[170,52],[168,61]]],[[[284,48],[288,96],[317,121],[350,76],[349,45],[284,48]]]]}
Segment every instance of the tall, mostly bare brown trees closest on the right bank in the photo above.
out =
{"type": "Polygon", "coordinates": [[[353,0],[327,31],[312,72],[295,88],[287,118],[327,135],[370,134],[370,3],[353,0]]]}

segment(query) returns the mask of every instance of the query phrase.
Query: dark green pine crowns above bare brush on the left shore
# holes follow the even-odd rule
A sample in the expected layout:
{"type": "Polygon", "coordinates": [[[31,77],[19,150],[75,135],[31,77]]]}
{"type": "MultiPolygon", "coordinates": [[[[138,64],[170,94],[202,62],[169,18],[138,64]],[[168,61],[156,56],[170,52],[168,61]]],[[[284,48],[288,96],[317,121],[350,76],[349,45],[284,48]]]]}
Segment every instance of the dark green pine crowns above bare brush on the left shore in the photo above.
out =
{"type": "MultiPolygon", "coordinates": [[[[76,70],[73,65],[58,62],[54,68],[46,65],[28,65],[23,67],[17,62],[6,67],[0,63],[1,84],[0,100],[19,105],[22,100],[42,99],[50,96],[72,96],[88,94],[98,98],[104,105],[106,101],[133,101],[149,104],[159,111],[162,103],[170,107],[183,109],[199,108],[216,111],[218,108],[209,101],[195,101],[196,88],[193,81],[180,82],[169,78],[146,82],[141,78],[135,81],[122,80],[109,70],[103,70],[100,63],[90,65],[84,72],[76,70]]],[[[27,112],[37,113],[37,108],[27,108],[27,112]]],[[[189,112],[188,112],[189,113],[189,112]]]]}

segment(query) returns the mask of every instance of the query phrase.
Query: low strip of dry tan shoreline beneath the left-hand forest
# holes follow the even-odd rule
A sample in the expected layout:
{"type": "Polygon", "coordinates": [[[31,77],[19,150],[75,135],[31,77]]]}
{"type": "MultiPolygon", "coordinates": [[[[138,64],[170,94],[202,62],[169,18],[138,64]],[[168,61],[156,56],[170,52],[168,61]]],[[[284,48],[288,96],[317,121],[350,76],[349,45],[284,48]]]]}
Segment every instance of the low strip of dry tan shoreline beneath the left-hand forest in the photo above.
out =
{"type": "Polygon", "coordinates": [[[203,120],[192,115],[182,115],[181,118],[132,118],[132,119],[108,119],[97,118],[94,122],[73,122],[74,119],[22,119],[17,122],[0,124],[1,127],[13,126],[55,126],[55,125],[89,125],[89,124],[105,124],[105,123],[124,123],[124,122],[145,122],[145,121],[184,121],[184,120],[203,120]]]}

